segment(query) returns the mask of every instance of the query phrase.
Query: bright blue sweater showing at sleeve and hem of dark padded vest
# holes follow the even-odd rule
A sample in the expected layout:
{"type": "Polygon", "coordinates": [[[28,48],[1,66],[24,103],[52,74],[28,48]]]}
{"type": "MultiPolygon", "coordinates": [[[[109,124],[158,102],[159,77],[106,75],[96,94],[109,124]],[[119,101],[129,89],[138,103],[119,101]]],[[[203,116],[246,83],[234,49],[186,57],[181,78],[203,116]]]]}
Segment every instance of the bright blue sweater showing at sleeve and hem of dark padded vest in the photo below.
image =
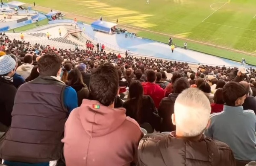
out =
{"type": "MultiPolygon", "coordinates": [[[[64,105],[68,108],[70,113],[74,108],[77,108],[77,92],[72,87],[67,86],[64,90],[64,105]]],[[[7,166],[49,166],[47,163],[18,163],[11,161],[4,161],[7,166]]]]}

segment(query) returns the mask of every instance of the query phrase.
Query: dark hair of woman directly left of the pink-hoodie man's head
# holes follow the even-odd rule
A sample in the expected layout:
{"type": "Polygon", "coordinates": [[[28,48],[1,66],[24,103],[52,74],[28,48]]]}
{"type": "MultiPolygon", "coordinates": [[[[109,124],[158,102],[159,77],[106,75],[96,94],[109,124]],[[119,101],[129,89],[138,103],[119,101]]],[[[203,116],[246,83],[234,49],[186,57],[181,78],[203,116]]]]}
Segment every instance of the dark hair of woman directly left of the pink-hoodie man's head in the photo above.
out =
{"type": "Polygon", "coordinates": [[[71,70],[70,73],[68,74],[67,80],[68,80],[67,84],[69,86],[76,85],[76,84],[83,84],[85,87],[87,87],[82,81],[82,73],[78,69],[71,70]]]}

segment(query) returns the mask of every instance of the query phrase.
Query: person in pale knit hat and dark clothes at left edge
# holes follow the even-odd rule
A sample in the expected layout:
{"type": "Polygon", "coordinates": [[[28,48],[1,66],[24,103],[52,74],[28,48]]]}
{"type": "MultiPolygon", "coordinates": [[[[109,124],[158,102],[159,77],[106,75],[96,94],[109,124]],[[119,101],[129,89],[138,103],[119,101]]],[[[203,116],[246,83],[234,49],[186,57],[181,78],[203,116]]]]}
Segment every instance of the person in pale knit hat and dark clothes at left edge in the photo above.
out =
{"type": "Polygon", "coordinates": [[[12,107],[17,89],[12,84],[15,60],[10,55],[0,56],[0,131],[6,132],[12,122],[12,107]]]}

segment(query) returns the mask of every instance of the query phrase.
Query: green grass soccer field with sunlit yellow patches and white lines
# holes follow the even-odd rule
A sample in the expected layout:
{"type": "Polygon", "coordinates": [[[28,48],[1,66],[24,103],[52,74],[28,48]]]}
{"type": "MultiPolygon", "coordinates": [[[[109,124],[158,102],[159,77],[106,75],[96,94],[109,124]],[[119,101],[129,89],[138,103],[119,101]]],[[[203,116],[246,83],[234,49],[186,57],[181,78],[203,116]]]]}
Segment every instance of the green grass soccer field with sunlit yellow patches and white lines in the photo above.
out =
{"type": "Polygon", "coordinates": [[[256,54],[256,0],[20,1],[256,54]]]}

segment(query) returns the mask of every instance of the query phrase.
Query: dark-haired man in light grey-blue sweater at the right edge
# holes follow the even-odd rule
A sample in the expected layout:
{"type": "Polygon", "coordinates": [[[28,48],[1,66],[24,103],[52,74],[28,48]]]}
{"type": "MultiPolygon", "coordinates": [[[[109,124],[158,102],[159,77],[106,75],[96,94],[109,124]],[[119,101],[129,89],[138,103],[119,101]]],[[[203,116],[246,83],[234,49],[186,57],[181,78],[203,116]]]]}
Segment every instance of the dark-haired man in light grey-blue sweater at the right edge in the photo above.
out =
{"type": "Polygon", "coordinates": [[[212,114],[211,125],[205,132],[208,137],[227,143],[235,159],[245,164],[256,160],[256,116],[252,110],[243,110],[246,94],[238,82],[227,83],[223,87],[224,110],[212,114]]]}

